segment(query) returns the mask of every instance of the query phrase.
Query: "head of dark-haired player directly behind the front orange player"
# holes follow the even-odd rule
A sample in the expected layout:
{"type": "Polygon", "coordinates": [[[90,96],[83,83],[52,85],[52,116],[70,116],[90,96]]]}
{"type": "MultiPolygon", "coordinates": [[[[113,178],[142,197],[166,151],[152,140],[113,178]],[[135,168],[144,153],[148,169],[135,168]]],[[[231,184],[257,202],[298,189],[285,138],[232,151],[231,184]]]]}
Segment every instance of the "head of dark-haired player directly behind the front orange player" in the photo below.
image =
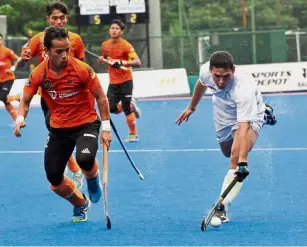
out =
{"type": "Polygon", "coordinates": [[[68,7],[61,1],[46,5],[47,22],[52,27],[64,27],[68,21],[68,7]]]}

